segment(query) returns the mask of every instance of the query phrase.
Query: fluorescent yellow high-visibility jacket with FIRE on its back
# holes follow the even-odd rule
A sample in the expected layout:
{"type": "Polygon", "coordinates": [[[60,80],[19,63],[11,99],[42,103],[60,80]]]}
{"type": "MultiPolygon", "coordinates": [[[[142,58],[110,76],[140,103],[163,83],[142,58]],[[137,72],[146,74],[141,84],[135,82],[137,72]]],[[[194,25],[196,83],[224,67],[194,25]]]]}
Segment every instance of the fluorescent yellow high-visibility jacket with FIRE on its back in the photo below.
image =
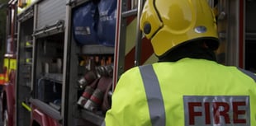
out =
{"type": "Polygon", "coordinates": [[[205,59],[183,58],[125,72],[107,126],[256,126],[256,77],[205,59]]]}

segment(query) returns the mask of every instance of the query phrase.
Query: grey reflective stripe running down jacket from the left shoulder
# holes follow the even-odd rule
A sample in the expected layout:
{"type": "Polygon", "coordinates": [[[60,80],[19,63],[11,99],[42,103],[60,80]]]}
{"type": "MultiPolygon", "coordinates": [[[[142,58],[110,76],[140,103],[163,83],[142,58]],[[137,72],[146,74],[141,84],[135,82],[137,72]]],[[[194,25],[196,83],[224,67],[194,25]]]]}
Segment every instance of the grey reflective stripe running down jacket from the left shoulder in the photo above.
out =
{"type": "Polygon", "coordinates": [[[165,110],[159,80],[152,65],[140,66],[152,126],[165,126],[165,110]]]}

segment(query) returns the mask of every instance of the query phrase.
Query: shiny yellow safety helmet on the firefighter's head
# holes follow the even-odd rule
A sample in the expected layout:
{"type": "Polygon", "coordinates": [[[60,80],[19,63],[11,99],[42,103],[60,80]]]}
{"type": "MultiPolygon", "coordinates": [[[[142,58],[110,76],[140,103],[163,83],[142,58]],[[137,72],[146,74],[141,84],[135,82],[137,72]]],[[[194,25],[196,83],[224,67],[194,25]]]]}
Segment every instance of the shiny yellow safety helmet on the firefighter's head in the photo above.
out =
{"type": "Polygon", "coordinates": [[[207,40],[216,50],[216,29],[214,13],[206,0],[146,0],[140,17],[140,30],[151,40],[158,57],[193,40],[207,40]]]}

